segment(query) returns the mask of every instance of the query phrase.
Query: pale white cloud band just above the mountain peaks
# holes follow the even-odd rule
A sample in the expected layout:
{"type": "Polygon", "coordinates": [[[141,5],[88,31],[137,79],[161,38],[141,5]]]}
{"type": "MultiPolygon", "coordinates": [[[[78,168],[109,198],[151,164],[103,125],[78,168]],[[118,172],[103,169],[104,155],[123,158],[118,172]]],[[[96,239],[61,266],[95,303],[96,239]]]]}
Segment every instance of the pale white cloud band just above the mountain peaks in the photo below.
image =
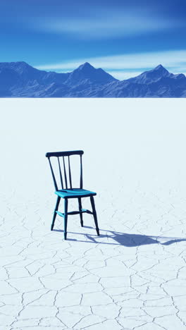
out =
{"type": "Polygon", "coordinates": [[[150,70],[160,63],[173,73],[186,72],[186,50],[156,51],[140,54],[123,54],[82,58],[63,63],[53,63],[37,66],[40,70],[73,71],[82,63],[89,62],[95,68],[103,68],[119,80],[134,77],[143,71],[150,70]]]}

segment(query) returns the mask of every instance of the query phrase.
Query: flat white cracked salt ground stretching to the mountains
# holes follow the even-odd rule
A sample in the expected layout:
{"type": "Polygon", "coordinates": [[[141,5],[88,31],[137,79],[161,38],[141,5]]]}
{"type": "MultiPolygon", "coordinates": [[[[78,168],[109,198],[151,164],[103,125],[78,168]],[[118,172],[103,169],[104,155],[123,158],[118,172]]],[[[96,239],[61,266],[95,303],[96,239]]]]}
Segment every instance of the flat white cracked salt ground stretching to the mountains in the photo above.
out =
{"type": "Polygon", "coordinates": [[[0,330],[185,329],[185,100],[0,106],[0,330]],[[89,214],[84,228],[69,216],[66,241],[62,218],[50,231],[56,195],[44,154],[68,149],[85,151],[99,237],[89,214]]]}

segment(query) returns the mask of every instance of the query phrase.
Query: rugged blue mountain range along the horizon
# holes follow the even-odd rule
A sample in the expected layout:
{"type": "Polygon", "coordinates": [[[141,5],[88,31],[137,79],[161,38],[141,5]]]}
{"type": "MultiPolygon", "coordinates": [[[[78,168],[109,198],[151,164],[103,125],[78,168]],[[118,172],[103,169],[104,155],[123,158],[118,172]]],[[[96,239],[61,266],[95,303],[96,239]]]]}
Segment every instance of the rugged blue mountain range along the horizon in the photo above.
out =
{"type": "Polygon", "coordinates": [[[161,64],[120,81],[87,62],[70,73],[4,62],[0,63],[0,97],[186,97],[186,77],[169,73],[161,64]]]}

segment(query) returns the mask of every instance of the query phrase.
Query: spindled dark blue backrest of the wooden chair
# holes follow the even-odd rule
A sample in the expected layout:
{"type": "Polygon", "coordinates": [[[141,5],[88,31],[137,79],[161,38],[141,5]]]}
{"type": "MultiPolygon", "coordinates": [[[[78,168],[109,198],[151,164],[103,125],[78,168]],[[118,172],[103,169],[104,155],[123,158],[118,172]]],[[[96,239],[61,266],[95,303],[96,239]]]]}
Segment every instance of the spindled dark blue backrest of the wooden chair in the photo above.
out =
{"type": "MultiPolygon", "coordinates": [[[[51,168],[51,175],[54,181],[54,187],[56,190],[60,189],[73,189],[73,183],[72,183],[72,174],[70,169],[70,156],[77,154],[80,155],[80,189],[82,189],[82,154],[84,152],[82,150],[75,150],[75,151],[66,151],[66,152],[47,152],[46,157],[49,159],[49,165],[51,168]],[[51,157],[56,157],[57,159],[57,165],[58,165],[58,174],[61,181],[61,188],[58,189],[56,176],[54,174],[54,169],[51,164],[51,157]],[[63,165],[61,168],[61,161],[60,157],[63,158],[63,165]],[[68,158],[68,170],[66,169],[66,161],[65,157],[68,158]]],[[[77,187],[76,187],[77,188],[77,187]]]]}

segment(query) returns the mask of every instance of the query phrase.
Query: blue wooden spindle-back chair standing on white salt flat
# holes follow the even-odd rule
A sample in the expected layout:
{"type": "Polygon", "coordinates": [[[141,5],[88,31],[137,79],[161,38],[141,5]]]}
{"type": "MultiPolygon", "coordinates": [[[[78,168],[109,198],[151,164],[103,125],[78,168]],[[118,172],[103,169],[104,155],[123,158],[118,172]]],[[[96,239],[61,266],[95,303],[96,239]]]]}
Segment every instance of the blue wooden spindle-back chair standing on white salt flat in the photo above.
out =
{"type": "Polygon", "coordinates": [[[55,187],[55,194],[57,195],[57,202],[56,202],[56,207],[54,209],[54,216],[52,219],[51,223],[51,231],[54,228],[54,223],[56,220],[56,214],[59,216],[63,216],[64,218],[64,239],[66,240],[67,236],[67,220],[68,220],[68,215],[71,214],[80,214],[80,224],[83,227],[83,219],[82,219],[82,214],[83,213],[88,213],[88,214],[93,214],[94,216],[94,222],[97,230],[97,235],[99,236],[99,227],[97,223],[97,212],[94,204],[94,196],[97,195],[97,193],[94,193],[93,191],[85,190],[82,189],[82,154],[84,152],[82,150],[75,150],[75,151],[66,151],[66,152],[47,152],[46,157],[49,159],[49,165],[51,169],[51,175],[54,181],[54,187],[55,187]],[[73,188],[72,184],[72,176],[71,176],[71,170],[70,170],[70,156],[72,155],[80,155],[80,188],[73,188]],[[56,177],[54,175],[54,169],[51,165],[51,157],[55,157],[57,160],[57,167],[58,167],[58,174],[59,178],[61,181],[61,189],[58,189],[58,185],[56,183],[56,177]],[[61,161],[60,157],[63,158],[63,170],[61,169],[61,161]],[[67,170],[66,170],[66,161],[65,157],[68,158],[68,179],[67,179],[67,170]],[[63,175],[62,175],[63,172],[63,175]],[[64,188],[64,183],[65,183],[65,188],[64,188]],[[69,187],[70,185],[70,187],[69,187]],[[92,212],[89,211],[88,209],[82,209],[82,201],[81,199],[83,197],[90,197],[90,202],[92,204],[92,212]],[[58,212],[58,205],[59,202],[63,198],[64,200],[64,213],[58,212]],[[78,199],[78,204],[79,204],[79,211],[73,211],[73,212],[68,212],[68,198],[77,198],[78,199]]]}

